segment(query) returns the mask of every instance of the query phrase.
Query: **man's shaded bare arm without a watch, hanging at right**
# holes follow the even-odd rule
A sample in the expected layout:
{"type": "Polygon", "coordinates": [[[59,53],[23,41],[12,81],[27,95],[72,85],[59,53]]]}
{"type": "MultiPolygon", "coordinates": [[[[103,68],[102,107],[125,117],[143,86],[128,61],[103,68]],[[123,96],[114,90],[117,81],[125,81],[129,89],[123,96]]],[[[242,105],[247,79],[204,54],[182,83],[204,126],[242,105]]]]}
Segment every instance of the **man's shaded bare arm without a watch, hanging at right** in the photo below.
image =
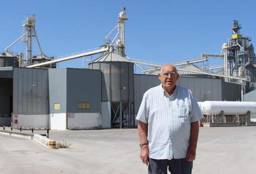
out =
{"type": "Polygon", "coordinates": [[[193,161],[196,158],[196,146],[197,146],[198,133],[199,133],[198,121],[191,122],[190,142],[189,142],[189,147],[188,147],[187,156],[186,156],[187,161],[193,161]]]}

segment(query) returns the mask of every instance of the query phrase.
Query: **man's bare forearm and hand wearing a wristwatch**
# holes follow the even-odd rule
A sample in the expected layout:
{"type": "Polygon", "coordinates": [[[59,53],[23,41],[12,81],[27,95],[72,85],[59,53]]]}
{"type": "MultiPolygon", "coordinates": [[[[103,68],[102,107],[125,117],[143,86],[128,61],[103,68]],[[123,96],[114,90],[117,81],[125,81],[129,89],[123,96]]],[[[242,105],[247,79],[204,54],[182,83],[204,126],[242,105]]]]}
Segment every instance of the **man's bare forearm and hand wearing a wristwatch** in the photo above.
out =
{"type": "MultiPolygon", "coordinates": [[[[141,144],[147,144],[148,143],[148,124],[142,122],[139,120],[138,125],[138,133],[140,138],[141,144]]],[[[140,153],[141,159],[144,163],[148,165],[149,161],[149,146],[143,145],[141,147],[141,153],[140,153]]]]}

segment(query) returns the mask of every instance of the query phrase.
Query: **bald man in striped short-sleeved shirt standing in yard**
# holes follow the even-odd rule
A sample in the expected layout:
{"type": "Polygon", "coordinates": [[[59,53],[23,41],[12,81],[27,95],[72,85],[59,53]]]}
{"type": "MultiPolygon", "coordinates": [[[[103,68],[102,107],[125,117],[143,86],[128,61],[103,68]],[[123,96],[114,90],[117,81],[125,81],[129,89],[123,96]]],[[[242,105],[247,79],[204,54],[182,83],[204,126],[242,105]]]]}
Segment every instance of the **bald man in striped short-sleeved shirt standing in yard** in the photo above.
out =
{"type": "Polygon", "coordinates": [[[141,159],[149,173],[187,174],[196,156],[203,115],[192,92],[176,85],[177,69],[166,64],[158,74],[161,84],[145,92],[137,114],[141,159]]]}

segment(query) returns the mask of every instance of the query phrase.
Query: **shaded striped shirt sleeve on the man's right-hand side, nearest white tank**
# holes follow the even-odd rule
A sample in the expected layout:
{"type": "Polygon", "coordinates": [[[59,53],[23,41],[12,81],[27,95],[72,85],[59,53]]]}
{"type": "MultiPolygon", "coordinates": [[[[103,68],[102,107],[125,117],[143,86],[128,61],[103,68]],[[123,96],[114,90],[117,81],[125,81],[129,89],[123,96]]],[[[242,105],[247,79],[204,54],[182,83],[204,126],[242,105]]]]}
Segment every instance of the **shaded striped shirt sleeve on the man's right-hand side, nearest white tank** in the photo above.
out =
{"type": "Polygon", "coordinates": [[[191,99],[191,105],[192,105],[192,109],[189,113],[190,114],[190,122],[199,121],[203,117],[203,114],[202,114],[201,109],[197,103],[196,98],[193,96],[193,94],[190,90],[189,90],[189,97],[191,99]]]}

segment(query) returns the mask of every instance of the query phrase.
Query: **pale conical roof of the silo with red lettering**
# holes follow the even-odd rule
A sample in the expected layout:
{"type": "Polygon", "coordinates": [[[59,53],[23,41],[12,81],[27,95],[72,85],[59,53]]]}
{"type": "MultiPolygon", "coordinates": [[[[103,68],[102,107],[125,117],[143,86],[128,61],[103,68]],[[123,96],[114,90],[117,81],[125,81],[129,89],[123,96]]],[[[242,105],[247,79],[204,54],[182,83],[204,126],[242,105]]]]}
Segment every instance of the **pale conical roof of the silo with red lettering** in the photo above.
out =
{"type": "Polygon", "coordinates": [[[90,63],[95,63],[95,62],[103,62],[103,61],[124,61],[124,62],[131,62],[129,59],[115,53],[115,52],[107,52],[97,59],[91,61],[90,63]]]}

